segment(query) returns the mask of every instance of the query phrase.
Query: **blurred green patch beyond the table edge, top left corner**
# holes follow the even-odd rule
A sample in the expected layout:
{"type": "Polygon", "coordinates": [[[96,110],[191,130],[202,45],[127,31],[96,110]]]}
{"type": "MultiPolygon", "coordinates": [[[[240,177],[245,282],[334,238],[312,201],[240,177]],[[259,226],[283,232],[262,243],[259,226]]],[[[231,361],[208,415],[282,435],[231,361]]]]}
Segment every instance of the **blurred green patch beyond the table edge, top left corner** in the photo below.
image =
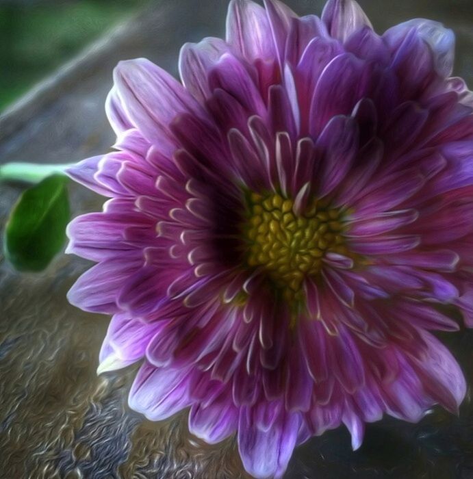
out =
{"type": "Polygon", "coordinates": [[[147,1],[1,1],[0,112],[147,1]]]}

